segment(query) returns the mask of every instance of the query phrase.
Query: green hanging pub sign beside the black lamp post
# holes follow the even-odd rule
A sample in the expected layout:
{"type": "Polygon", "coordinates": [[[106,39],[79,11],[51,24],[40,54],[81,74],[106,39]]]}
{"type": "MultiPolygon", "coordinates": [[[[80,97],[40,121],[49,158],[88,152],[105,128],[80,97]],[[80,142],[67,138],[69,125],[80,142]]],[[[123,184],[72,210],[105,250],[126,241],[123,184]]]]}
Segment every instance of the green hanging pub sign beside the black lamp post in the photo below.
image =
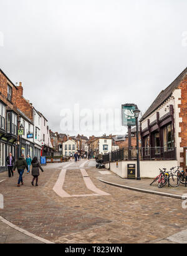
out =
{"type": "Polygon", "coordinates": [[[135,104],[122,105],[122,126],[136,126],[136,119],[133,111],[137,109],[135,104]]]}

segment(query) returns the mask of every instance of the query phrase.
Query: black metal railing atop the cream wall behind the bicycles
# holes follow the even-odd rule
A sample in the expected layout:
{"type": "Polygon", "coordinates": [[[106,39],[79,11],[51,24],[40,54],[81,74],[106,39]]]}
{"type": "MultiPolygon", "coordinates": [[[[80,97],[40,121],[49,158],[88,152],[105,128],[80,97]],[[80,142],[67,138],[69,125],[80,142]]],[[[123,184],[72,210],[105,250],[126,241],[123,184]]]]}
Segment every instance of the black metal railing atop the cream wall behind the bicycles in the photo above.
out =
{"type": "MultiPolygon", "coordinates": [[[[176,147],[140,147],[140,160],[176,160],[176,147]]],[[[135,147],[123,147],[107,155],[103,155],[104,162],[120,160],[137,160],[135,147]]]]}

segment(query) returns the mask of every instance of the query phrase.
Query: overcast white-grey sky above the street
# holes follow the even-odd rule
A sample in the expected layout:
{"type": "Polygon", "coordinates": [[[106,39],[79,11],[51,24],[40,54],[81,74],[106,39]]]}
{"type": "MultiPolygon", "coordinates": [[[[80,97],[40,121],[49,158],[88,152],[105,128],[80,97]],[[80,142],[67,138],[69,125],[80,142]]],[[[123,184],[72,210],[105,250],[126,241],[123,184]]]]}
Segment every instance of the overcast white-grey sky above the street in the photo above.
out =
{"type": "Polygon", "coordinates": [[[74,104],[145,112],[186,67],[186,10],[186,0],[0,0],[0,67],[54,131],[74,104]]]}

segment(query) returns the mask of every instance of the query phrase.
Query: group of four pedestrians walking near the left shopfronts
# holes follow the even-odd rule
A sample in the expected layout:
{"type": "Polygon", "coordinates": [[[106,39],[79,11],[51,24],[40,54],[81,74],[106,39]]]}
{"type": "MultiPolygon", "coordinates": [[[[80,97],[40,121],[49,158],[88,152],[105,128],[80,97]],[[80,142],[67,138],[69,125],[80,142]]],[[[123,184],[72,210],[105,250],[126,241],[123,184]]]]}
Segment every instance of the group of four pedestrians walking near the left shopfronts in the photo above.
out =
{"type": "Polygon", "coordinates": [[[9,153],[9,156],[6,158],[7,162],[7,168],[8,168],[8,174],[9,177],[14,176],[14,172],[17,168],[17,172],[19,174],[19,179],[17,181],[17,187],[20,187],[21,185],[24,185],[24,182],[22,180],[22,175],[24,174],[24,170],[27,170],[27,174],[30,173],[30,167],[32,165],[32,182],[31,184],[34,186],[34,180],[36,180],[36,186],[38,185],[38,177],[40,175],[39,170],[41,169],[42,172],[44,170],[41,167],[41,164],[39,163],[37,157],[34,157],[31,159],[30,155],[27,155],[26,159],[24,158],[24,155],[22,154],[19,159],[15,161],[15,158],[13,157],[12,153],[9,153]]]}

